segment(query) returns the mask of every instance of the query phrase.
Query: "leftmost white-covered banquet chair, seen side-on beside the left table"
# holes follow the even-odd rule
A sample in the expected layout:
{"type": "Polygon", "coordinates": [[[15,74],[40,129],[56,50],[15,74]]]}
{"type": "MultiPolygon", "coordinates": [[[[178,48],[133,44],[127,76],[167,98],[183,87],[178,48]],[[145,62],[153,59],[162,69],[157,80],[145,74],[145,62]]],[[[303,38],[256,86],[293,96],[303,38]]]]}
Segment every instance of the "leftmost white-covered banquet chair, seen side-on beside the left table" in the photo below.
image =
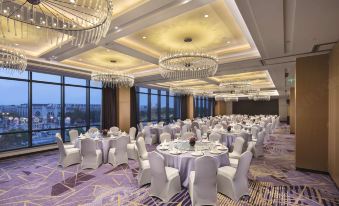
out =
{"type": "Polygon", "coordinates": [[[69,148],[64,147],[60,133],[55,135],[55,139],[59,149],[59,161],[58,165],[61,165],[63,168],[68,167],[73,164],[79,164],[81,162],[80,150],[78,148],[69,148]]]}

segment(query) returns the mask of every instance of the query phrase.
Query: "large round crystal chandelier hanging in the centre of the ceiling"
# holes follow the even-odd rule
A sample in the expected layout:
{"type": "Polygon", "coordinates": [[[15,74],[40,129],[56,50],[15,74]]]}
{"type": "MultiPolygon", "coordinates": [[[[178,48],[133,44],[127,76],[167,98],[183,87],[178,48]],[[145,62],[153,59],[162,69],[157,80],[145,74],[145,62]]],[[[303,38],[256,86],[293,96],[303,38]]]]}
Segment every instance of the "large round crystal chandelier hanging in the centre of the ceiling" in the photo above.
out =
{"type": "MultiPolygon", "coordinates": [[[[187,37],[184,42],[192,42],[187,37]]],[[[218,70],[218,58],[202,51],[175,51],[159,58],[160,74],[165,79],[192,79],[213,76],[218,70]]]]}

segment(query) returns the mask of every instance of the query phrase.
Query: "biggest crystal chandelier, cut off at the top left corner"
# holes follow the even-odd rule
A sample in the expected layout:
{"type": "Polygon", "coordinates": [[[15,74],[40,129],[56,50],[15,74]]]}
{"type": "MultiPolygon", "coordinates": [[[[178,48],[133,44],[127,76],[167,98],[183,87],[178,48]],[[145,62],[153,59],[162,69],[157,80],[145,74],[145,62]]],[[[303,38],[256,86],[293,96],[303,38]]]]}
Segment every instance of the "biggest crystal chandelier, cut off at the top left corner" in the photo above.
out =
{"type": "Polygon", "coordinates": [[[47,38],[56,36],[56,45],[72,40],[79,47],[106,36],[113,11],[112,0],[0,0],[0,4],[0,16],[7,19],[2,26],[15,36],[26,38],[34,29],[47,38]]]}

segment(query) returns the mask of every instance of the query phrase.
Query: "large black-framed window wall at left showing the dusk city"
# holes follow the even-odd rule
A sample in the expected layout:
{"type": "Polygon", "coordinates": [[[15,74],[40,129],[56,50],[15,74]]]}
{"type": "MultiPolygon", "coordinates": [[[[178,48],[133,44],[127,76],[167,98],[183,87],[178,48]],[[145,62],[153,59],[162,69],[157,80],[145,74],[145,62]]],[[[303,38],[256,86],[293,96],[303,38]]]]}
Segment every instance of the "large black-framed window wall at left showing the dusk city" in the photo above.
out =
{"type": "Polygon", "coordinates": [[[101,125],[102,90],[89,80],[0,71],[0,152],[55,143],[101,125]]]}

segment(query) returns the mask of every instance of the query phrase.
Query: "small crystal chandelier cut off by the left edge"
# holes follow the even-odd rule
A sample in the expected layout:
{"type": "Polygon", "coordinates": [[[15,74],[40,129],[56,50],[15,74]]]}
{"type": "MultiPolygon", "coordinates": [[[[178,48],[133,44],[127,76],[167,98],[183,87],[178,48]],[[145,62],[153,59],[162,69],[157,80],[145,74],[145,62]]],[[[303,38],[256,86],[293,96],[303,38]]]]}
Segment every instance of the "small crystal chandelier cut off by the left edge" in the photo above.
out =
{"type": "Polygon", "coordinates": [[[4,45],[0,46],[0,69],[21,73],[26,68],[27,58],[21,50],[4,45]]]}

